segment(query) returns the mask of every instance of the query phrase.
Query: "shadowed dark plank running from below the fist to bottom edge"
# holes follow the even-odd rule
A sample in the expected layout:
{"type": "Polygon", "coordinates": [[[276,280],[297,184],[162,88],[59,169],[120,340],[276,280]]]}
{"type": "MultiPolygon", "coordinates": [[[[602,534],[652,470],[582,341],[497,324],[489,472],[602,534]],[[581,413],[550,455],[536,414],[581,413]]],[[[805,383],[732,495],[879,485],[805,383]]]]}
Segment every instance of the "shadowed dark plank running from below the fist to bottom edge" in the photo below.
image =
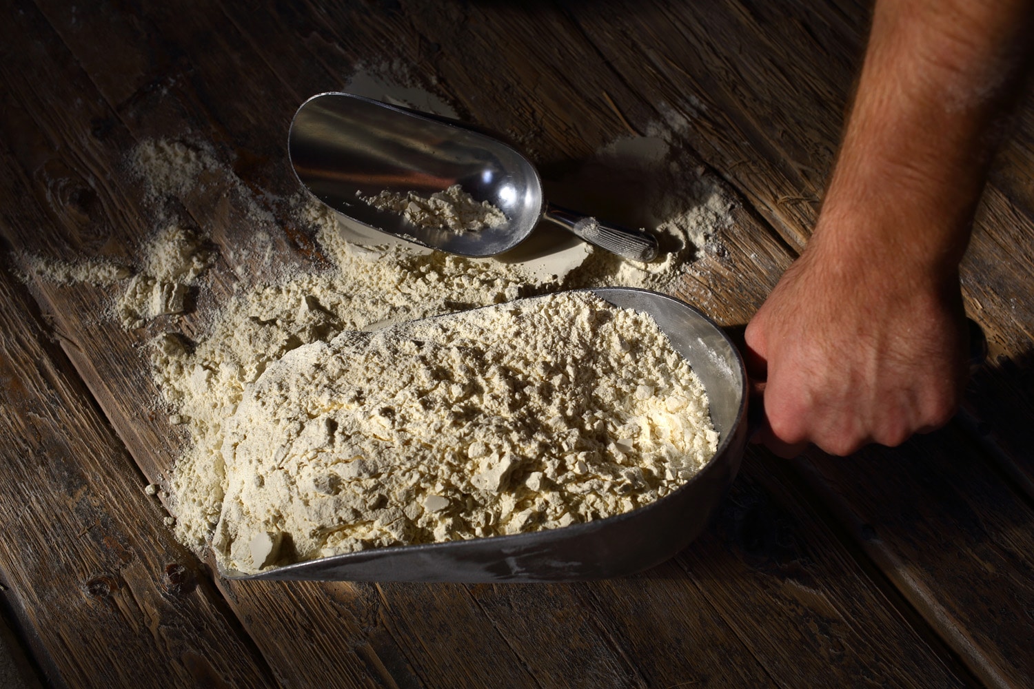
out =
{"type": "Polygon", "coordinates": [[[719,609],[737,636],[766,658],[772,677],[793,686],[844,686],[862,678],[900,687],[973,683],[895,592],[874,585],[880,572],[859,568],[856,560],[863,558],[845,552],[835,522],[816,520],[821,508],[798,490],[782,460],[752,452],[747,462],[753,471],[737,481],[716,533],[676,561],[709,601],[750,596],[749,608],[719,609]],[[723,547],[738,557],[711,556],[723,547]],[[838,578],[837,585],[815,578],[817,571],[839,572],[825,575],[838,578]],[[800,623],[772,634],[769,621],[787,609],[797,610],[800,623]],[[895,640],[874,638],[871,620],[895,640]],[[802,663],[801,655],[815,662],[802,663]]]}

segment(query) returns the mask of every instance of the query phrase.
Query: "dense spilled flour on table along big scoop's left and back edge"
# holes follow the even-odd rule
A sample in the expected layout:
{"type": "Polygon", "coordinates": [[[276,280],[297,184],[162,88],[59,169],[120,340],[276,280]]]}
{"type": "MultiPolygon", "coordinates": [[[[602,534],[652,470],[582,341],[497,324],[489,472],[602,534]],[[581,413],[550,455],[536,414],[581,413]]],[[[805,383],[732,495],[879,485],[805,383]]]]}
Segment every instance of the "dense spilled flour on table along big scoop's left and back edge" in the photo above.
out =
{"type": "Polygon", "coordinates": [[[201,549],[221,511],[224,425],[267,367],[302,345],[428,316],[510,302],[556,289],[498,261],[475,261],[406,246],[364,247],[342,239],[332,212],[314,200],[295,209],[314,228],[332,267],[296,271],[274,283],[246,285],[187,342],[155,339],[152,375],[190,447],[171,481],[176,533],[201,549]]]}

